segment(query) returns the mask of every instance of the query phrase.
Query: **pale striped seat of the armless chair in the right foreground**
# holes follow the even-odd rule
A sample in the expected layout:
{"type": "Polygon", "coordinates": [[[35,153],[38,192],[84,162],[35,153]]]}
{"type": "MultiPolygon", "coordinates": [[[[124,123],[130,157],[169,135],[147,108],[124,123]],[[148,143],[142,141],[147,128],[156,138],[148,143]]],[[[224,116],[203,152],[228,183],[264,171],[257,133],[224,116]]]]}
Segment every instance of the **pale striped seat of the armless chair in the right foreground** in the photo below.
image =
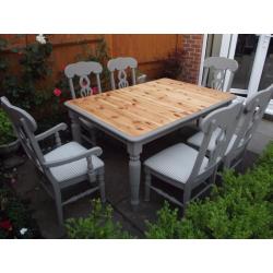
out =
{"type": "MultiPolygon", "coordinates": [[[[144,162],[144,165],[177,182],[186,183],[190,177],[197,156],[198,151],[186,144],[178,143],[150,157],[144,162]]],[[[207,162],[209,159],[204,157],[200,174],[203,173],[207,162]]]]}

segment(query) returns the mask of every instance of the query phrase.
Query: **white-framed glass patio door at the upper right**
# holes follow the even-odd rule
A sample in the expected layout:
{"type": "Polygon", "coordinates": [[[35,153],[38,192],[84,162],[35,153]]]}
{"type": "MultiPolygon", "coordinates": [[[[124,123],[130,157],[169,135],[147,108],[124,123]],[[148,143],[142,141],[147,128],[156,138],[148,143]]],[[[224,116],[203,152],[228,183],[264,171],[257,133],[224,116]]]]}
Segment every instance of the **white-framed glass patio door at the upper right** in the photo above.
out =
{"type": "MultiPolygon", "coordinates": [[[[239,63],[232,85],[233,93],[249,96],[273,83],[272,37],[270,34],[223,35],[221,51],[239,63]]],[[[273,100],[266,112],[273,115],[273,100]]]]}

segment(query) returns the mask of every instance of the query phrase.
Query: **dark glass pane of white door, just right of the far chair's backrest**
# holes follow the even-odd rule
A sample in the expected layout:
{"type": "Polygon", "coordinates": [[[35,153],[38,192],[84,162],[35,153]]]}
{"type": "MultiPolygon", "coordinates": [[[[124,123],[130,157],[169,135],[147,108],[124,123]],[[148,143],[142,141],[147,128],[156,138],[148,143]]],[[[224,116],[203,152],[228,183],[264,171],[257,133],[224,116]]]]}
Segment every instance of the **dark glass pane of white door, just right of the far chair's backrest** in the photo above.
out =
{"type": "Polygon", "coordinates": [[[259,36],[254,34],[239,34],[234,59],[239,68],[234,75],[232,88],[247,90],[256,56],[259,36]]]}

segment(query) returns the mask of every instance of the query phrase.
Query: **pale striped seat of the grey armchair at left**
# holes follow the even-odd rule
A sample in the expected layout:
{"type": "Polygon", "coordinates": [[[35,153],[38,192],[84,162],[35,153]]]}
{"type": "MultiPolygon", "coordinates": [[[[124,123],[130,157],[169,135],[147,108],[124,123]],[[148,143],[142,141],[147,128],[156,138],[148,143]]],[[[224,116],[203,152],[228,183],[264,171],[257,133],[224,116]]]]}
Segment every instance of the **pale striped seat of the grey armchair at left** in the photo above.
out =
{"type": "MultiPolygon", "coordinates": [[[[70,142],[60,147],[55,149],[45,155],[46,162],[67,159],[72,156],[76,156],[87,151],[78,142],[70,142]]],[[[97,156],[92,155],[92,164],[94,169],[102,168],[104,166],[103,161],[97,156]]],[[[87,174],[87,161],[82,158],[76,162],[68,163],[58,167],[51,167],[50,171],[58,182],[73,179],[87,174]]]]}

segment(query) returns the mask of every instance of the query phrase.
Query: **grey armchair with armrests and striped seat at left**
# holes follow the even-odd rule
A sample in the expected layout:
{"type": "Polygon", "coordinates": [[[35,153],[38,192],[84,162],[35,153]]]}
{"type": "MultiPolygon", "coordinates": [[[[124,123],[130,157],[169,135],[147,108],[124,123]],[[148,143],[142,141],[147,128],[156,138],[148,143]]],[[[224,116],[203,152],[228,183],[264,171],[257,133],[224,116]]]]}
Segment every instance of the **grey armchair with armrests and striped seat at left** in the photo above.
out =
{"type": "Polygon", "coordinates": [[[60,123],[35,135],[37,123],[29,114],[11,105],[5,97],[1,97],[1,106],[9,115],[25,153],[50,181],[50,183],[48,181],[43,182],[43,186],[56,201],[58,221],[61,226],[63,224],[63,205],[98,189],[100,190],[102,201],[105,202],[104,163],[97,157],[103,152],[100,147],[86,150],[76,142],[62,145],[59,132],[67,129],[66,123],[60,123]],[[47,154],[43,154],[39,142],[49,136],[55,136],[57,147],[47,154]],[[98,179],[98,185],[96,179],[98,179]],[[91,185],[88,190],[62,201],[61,192],[63,189],[84,180],[87,180],[91,185]]]}

